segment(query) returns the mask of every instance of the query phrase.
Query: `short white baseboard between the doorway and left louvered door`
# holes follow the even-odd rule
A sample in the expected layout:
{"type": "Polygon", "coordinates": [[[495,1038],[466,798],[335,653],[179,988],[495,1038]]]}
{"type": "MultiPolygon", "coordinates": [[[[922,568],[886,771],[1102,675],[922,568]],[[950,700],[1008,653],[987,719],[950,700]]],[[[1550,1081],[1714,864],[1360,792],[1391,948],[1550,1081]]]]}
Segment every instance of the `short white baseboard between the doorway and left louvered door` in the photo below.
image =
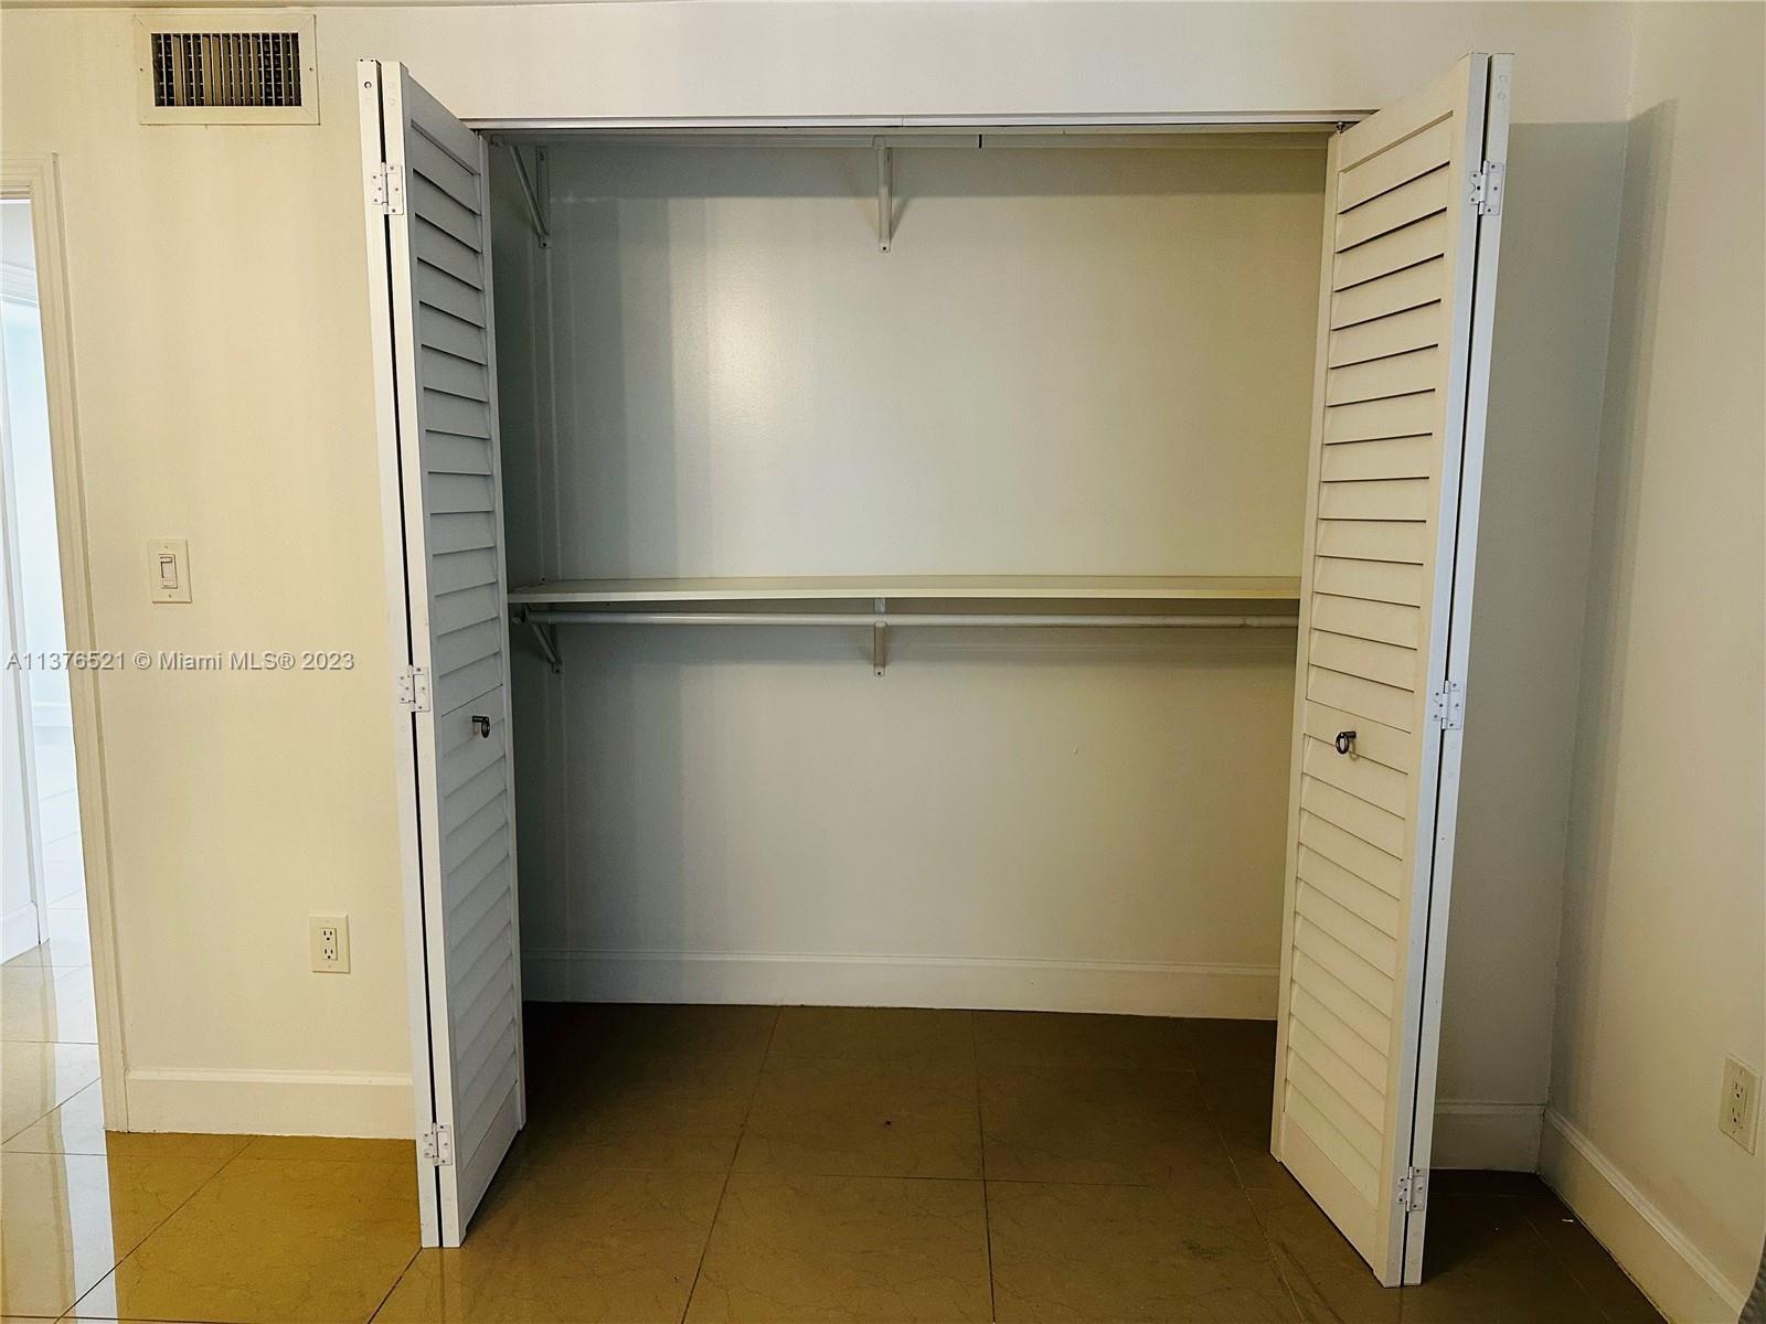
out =
{"type": "Polygon", "coordinates": [[[367,1072],[131,1068],[129,1128],[408,1139],[411,1079],[367,1072]]]}

